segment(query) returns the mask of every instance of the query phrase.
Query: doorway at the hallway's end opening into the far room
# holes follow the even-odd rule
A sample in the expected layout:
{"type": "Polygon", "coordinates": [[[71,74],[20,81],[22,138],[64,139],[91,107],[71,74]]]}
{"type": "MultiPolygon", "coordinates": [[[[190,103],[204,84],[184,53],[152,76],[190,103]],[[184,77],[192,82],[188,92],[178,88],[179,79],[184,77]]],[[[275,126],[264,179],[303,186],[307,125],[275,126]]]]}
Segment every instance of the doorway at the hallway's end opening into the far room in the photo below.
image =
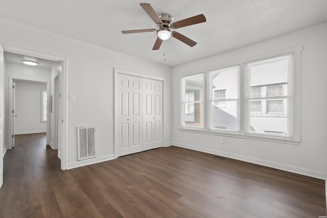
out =
{"type": "Polygon", "coordinates": [[[46,132],[49,138],[49,81],[9,77],[9,88],[8,149],[15,147],[18,134],[46,132]]]}

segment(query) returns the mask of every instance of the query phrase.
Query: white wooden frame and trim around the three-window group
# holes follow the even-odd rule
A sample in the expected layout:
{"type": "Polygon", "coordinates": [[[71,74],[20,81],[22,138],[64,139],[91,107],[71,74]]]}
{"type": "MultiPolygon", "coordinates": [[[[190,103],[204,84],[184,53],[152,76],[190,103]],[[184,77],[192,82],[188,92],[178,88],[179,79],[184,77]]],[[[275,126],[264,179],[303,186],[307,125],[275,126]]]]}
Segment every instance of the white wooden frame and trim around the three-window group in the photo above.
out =
{"type": "MultiPolygon", "coordinates": [[[[185,77],[193,76],[199,74],[199,72],[204,74],[204,126],[203,128],[192,128],[192,127],[185,127],[181,126],[178,128],[179,131],[185,132],[192,132],[192,133],[202,133],[202,134],[211,134],[211,135],[219,135],[219,136],[226,136],[232,138],[243,138],[243,139],[252,139],[252,140],[260,140],[260,141],[269,141],[269,142],[276,142],[276,143],[284,143],[284,144],[293,144],[298,145],[300,140],[300,123],[301,123],[301,103],[300,103],[300,84],[301,84],[301,51],[303,51],[303,45],[290,47],[288,49],[283,49],[279,51],[273,51],[266,54],[261,55],[252,55],[249,57],[244,57],[238,59],[238,61],[231,61],[229,64],[220,63],[212,66],[211,68],[207,68],[204,71],[193,71],[189,72],[189,74],[184,74],[180,77],[181,81],[185,77]],[[293,96],[293,113],[290,114],[292,116],[291,120],[293,121],[293,136],[292,137],[281,137],[275,135],[260,135],[260,134],[247,134],[245,131],[246,128],[246,100],[245,100],[245,89],[246,89],[246,82],[247,78],[245,77],[245,64],[247,62],[258,61],[262,59],[270,59],[277,56],[284,56],[287,54],[293,54],[293,74],[289,76],[289,80],[293,81],[293,86],[288,87],[290,95],[293,96]],[[239,123],[240,123],[240,131],[226,131],[226,130],[217,130],[217,129],[209,129],[211,124],[209,123],[210,119],[210,111],[208,102],[211,95],[209,90],[209,84],[211,82],[209,78],[209,72],[213,71],[214,69],[223,69],[228,68],[230,66],[239,65],[239,123]]],[[[182,82],[181,82],[181,92],[182,93],[182,82]]],[[[182,97],[182,96],[181,96],[182,97]]],[[[182,106],[182,105],[181,105],[182,106]]],[[[182,107],[180,108],[181,111],[184,110],[182,107]]],[[[289,111],[291,112],[291,111],[289,111]]],[[[181,114],[181,121],[182,121],[182,114],[181,114]]]]}

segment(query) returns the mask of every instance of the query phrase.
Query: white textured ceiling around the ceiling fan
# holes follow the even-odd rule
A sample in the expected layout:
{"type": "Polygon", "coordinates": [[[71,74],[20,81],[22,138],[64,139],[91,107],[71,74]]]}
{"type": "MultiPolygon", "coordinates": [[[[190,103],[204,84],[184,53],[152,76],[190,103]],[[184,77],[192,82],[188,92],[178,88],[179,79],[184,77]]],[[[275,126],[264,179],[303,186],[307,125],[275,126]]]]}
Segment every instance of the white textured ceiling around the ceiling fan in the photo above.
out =
{"type": "Polygon", "coordinates": [[[323,23],[326,12],[326,0],[0,1],[0,17],[169,66],[323,23]],[[177,29],[198,44],[189,47],[171,38],[152,51],[155,32],[123,35],[121,30],[157,28],[139,3],[150,3],[175,21],[204,14],[206,22],[177,29]]]}

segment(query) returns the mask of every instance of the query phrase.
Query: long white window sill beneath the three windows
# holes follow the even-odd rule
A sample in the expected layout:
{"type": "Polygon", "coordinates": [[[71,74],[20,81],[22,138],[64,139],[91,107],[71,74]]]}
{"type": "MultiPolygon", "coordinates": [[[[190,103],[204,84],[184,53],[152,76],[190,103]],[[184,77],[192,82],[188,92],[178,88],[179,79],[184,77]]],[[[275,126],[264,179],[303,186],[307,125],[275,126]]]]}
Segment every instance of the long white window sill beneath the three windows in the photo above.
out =
{"type": "Polygon", "coordinates": [[[250,135],[250,134],[241,134],[240,132],[222,132],[215,130],[205,130],[205,129],[196,129],[196,128],[188,128],[188,127],[180,127],[179,131],[184,132],[193,132],[193,133],[201,133],[201,134],[209,134],[209,135],[220,135],[232,138],[244,138],[244,139],[252,139],[259,141],[269,141],[275,143],[283,143],[283,144],[293,144],[298,146],[300,140],[291,139],[291,138],[281,138],[281,137],[269,137],[269,136],[261,136],[261,135],[250,135]]]}

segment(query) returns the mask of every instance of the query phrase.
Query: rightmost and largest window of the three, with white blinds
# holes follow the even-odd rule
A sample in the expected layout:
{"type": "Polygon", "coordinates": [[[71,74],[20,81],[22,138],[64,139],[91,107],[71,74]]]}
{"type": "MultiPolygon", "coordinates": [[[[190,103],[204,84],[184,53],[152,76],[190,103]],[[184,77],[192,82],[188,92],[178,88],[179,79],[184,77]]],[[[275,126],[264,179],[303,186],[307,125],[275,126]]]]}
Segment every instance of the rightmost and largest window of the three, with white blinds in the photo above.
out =
{"type": "Polygon", "coordinates": [[[293,55],[245,64],[247,82],[245,132],[292,136],[292,95],[289,79],[293,55]]]}

